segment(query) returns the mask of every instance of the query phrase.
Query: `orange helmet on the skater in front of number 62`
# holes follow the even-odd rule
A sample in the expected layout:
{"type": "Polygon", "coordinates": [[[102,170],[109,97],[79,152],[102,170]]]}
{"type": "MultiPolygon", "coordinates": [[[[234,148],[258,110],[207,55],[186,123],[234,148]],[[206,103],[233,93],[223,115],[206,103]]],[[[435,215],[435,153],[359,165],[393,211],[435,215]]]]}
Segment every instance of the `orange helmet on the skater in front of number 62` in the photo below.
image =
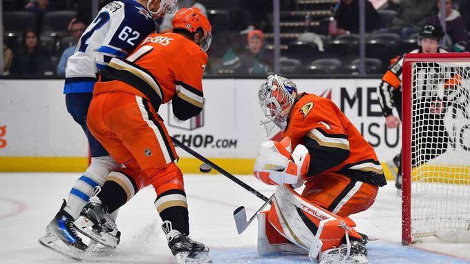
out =
{"type": "Polygon", "coordinates": [[[205,52],[209,50],[212,42],[212,26],[209,19],[199,8],[181,8],[173,17],[173,29],[181,28],[196,33],[198,29],[203,30],[203,39],[199,45],[205,52]]]}

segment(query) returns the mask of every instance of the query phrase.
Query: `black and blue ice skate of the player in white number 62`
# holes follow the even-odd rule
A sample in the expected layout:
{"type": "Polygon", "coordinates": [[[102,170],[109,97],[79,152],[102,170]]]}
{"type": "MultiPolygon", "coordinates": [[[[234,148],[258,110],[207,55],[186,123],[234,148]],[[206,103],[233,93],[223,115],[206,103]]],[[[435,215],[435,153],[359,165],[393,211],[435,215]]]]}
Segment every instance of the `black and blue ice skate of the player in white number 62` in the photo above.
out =
{"type": "Polygon", "coordinates": [[[39,244],[59,254],[82,260],[88,247],[82,242],[82,238],[77,235],[73,225],[73,218],[64,211],[66,201],[46,227],[46,235],[39,238],[39,244]]]}

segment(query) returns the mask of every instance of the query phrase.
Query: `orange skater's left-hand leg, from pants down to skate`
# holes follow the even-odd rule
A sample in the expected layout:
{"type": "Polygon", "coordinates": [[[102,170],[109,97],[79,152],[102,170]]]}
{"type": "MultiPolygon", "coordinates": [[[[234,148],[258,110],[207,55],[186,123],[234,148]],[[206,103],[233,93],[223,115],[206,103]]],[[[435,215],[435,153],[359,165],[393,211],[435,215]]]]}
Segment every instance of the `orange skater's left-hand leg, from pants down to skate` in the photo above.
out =
{"type": "MultiPolygon", "coordinates": [[[[95,138],[105,146],[116,161],[125,167],[109,172],[106,181],[95,188],[95,193],[82,210],[80,218],[75,221],[78,231],[93,240],[115,247],[120,241],[120,232],[115,224],[113,214],[118,208],[129,201],[142,187],[148,183],[142,178],[140,170],[129,150],[122,144],[113,128],[105,122],[102,112],[105,108],[106,95],[99,94],[93,99],[88,110],[88,126],[95,138]]],[[[120,105],[113,105],[119,107],[120,105]]],[[[112,110],[113,108],[111,108],[112,110]]],[[[122,122],[126,122],[122,119],[122,122]]]]}

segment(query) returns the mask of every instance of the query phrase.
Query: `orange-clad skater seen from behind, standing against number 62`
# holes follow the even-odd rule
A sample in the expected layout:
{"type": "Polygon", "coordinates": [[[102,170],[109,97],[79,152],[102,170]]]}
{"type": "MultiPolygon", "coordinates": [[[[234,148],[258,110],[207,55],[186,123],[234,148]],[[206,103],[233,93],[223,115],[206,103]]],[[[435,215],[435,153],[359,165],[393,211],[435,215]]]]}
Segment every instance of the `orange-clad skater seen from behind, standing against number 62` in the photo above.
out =
{"type": "MultiPolygon", "coordinates": [[[[209,248],[188,236],[183,177],[158,108],[172,101],[173,114],[181,120],[203,109],[202,78],[211,30],[198,8],[178,10],[173,32],[150,34],[129,57],[113,58],[100,71],[88,110],[91,133],[125,167],[110,172],[83,214],[95,227],[112,233],[115,223],[109,214],[145,185],[153,185],[155,207],[178,263],[207,263],[209,248]]],[[[95,235],[100,241],[102,234],[95,235]]]]}

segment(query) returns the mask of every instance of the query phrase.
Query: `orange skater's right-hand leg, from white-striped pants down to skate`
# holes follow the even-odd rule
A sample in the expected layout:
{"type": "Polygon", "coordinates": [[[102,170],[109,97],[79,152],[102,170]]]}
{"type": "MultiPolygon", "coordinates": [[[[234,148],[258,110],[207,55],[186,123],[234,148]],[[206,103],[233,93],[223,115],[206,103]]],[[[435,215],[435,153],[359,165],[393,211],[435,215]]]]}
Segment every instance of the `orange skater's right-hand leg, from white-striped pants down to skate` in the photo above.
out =
{"type": "MultiPolygon", "coordinates": [[[[108,129],[112,127],[113,133],[145,172],[149,183],[155,187],[157,192],[155,205],[162,218],[162,227],[171,252],[177,256],[180,263],[190,259],[198,261],[209,259],[209,249],[187,236],[189,221],[182,173],[174,163],[176,151],[162,119],[141,97],[124,92],[114,92],[113,96],[99,94],[95,97],[96,100],[104,98],[106,101],[100,110],[104,114],[102,121],[99,122],[107,125],[108,129]]],[[[94,111],[93,103],[90,111],[94,111]]],[[[109,133],[106,128],[97,128],[95,126],[97,121],[93,119],[88,119],[88,125],[93,134],[101,140],[100,131],[104,134],[109,133]]],[[[109,151],[115,156],[111,149],[109,151]]],[[[129,157],[127,160],[132,159],[129,157]]],[[[103,200],[106,203],[111,201],[104,198],[103,200]]]]}

